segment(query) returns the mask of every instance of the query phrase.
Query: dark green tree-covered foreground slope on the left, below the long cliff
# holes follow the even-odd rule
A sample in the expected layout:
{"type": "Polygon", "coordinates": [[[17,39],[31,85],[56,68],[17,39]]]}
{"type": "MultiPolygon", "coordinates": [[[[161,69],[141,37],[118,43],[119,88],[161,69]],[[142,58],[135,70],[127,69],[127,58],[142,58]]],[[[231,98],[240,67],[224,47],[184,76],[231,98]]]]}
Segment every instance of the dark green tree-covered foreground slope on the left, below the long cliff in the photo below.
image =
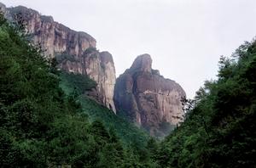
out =
{"type": "MultiPolygon", "coordinates": [[[[88,89],[94,87],[84,80],[88,89]]],[[[79,103],[73,88],[63,92],[60,81],[40,49],[0,15],[1,167],[150,167],[141,152],[146,148],[132,143],[128,148],[117,126],[107,129],[101,120],[88,120],[87,103],[79,103]]],[[[108,112],[98,106],[90,108],[108,112]]]]}

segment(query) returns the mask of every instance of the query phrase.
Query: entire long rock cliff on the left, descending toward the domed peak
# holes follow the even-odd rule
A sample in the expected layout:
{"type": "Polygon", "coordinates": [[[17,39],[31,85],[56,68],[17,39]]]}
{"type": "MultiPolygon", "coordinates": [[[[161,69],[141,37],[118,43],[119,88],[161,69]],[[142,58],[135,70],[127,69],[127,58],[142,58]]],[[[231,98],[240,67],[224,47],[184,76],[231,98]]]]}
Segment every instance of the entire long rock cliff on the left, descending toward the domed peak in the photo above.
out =
{"type": "Polygon", "coordinates": [[[88,75],[96,81],[96,91],[90,95],[115,112],[115,69],[112,55],[108,52],[98,52],[96,40],[92,36],[85,32],[73,31],[55,22],[51,16],[41,15],[31,8],[6,8],[2,3],[0,7],[8,20],[22,20],[26,31],[32,35],[32,42],[41,45],[47,57],[55,57],[60,63],[60,68],[88,75]]]}

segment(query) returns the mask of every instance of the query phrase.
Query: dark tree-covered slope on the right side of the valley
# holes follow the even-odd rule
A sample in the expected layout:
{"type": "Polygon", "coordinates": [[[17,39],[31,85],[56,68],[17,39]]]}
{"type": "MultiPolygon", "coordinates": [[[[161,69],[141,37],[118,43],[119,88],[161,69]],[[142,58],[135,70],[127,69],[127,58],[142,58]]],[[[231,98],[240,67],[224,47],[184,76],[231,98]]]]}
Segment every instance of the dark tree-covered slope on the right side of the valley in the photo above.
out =
{"type": "Polygon", "coordinates": [[[189,101],[186,120],[161,142],[163,167],[256,166],[256,42],[219,61],[218,80],[189,101]]]}

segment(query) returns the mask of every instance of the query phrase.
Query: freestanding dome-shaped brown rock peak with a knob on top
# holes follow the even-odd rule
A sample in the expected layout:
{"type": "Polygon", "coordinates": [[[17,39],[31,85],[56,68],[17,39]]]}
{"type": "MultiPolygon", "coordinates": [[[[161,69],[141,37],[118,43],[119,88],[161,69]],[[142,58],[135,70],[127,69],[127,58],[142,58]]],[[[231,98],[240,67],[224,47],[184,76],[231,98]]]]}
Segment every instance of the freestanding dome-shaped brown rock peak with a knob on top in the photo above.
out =
{"type": "Polygon", "coordinates": [[[151,64],[148,54],[135,59],[131,68],[117,79],[114,103],[138,126],[162,137],[183,120],[181,98],[185,92],[175,81],[152,70],[151,64]]]}

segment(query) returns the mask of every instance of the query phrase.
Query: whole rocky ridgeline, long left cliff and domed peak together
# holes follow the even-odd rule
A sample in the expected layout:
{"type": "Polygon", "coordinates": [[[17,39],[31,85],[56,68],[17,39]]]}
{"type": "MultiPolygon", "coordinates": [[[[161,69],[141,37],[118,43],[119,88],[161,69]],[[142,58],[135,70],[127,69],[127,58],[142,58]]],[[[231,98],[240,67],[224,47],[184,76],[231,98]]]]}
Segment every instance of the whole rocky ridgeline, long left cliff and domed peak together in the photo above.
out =
{"type": "MultiPolygon", "coordinates": [[[[108,52],[99,52],[92,36],[73,31],[55,22],[51,16],[41,15],[31,8],[6,8],[3,4],[0,6],[8,20],[26,28],[32,42],[43,49],[47,59],[55,59],[58,69],[73,73],[70,76],[62,74],[62,77],[69,78],[69,84],[78,84],[78,79],[85,81],[86,84],[77,89],[79,92],[83,91],[88,98],[129,119],[154,137],[165,137],[183,121],[180,101],[185,96],[183,89],[175,81],[160,76],[158,70],[151,70],[151,59],[151,62],[141,64],[149,67],[148,70],[125,72],[123,77],[119,77],[119,83],[115,87],[113,57],[108,52]],[[85,79],[82,79],[83,76],[85,79]],[[71,78],[74,81],[70,81],[71,78]],[[94,87],[88,89],[87,84],[94,87]]],[[[138,62],[139,59],[134,64],[140,66],[138,62]]]]}

